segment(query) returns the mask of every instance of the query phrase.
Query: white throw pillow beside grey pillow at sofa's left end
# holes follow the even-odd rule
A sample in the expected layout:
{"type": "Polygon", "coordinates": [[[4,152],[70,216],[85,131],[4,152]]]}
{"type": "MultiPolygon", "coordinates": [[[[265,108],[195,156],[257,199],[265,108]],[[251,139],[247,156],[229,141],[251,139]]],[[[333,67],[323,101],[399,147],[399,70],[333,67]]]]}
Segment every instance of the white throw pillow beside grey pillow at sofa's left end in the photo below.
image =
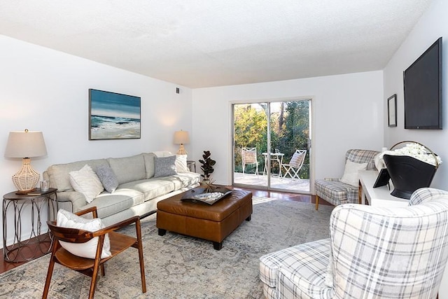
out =
{"type": "Polygon", "coordinates": [[[87,203],[92,202],[104,190],[103,184],[99,181],[97,174],[87,164],[78,171],[69,172],[69,177],[73,189],[83,193],[87,203]]]}

